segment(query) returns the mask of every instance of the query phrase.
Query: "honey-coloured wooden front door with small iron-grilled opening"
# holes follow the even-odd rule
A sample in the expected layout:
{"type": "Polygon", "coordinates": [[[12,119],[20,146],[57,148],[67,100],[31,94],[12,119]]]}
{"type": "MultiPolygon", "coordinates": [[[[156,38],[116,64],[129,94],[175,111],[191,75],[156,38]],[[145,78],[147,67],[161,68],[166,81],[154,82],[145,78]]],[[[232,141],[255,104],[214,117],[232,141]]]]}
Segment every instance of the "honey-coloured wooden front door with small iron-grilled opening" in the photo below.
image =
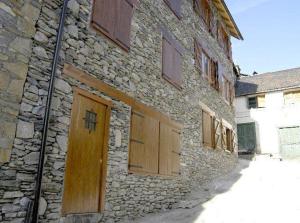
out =
{"type": "Polygon", "coordinates": [[[65,171],[63,214],[103,209],[111,102],[75,89],[65,171]]]}

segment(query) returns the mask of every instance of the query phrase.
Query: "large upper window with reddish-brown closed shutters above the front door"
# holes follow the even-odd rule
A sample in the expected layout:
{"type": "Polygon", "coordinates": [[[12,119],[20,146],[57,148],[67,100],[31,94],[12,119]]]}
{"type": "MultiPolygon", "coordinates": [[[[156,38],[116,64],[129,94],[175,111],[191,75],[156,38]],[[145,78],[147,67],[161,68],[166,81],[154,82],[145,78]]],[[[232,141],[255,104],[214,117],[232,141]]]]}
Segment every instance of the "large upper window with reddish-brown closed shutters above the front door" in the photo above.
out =
{"type": "Polygon", "coordinates": [[[130,48],[131,19],[136,0],[94,1],[92,26],[126,51],[130,48]]]}

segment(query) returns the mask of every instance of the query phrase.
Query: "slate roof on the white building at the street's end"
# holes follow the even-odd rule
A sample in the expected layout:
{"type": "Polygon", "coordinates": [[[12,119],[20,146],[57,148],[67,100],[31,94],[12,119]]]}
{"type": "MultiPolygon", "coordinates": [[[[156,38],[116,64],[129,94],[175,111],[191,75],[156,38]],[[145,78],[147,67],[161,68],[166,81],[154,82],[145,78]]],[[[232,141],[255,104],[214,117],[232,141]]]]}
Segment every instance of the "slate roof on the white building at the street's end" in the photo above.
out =
{"type": "Polygon", "coordinates": [[[300,67],[255,76],[241,77],[236,83],[236,96],[300,87],[300,67]]]}

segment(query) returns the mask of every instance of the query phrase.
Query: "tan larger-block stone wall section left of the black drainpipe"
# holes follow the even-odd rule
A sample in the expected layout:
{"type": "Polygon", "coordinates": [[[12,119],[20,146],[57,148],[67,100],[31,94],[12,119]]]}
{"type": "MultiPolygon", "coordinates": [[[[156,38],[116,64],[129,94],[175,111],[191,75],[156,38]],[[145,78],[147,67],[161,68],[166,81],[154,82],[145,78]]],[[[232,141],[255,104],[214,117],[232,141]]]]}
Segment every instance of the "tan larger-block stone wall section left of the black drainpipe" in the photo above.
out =
{"type": "Polygon", "coordinates": [[[0,2],[0,165],[10,160],[40,7],[36,1],[0,2]]]}

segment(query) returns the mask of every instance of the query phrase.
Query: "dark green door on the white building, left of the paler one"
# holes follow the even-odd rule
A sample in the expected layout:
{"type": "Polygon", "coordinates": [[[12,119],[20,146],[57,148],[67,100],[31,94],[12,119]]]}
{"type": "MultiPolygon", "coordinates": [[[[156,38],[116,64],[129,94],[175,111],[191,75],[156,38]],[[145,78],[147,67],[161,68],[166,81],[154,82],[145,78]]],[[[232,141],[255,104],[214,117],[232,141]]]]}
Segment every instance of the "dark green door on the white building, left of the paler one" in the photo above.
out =
{"type": "Polygon", "coordinates": [[[237,125],[239,152],[254,153],[256,149],[255,123],[237,125]]]}

